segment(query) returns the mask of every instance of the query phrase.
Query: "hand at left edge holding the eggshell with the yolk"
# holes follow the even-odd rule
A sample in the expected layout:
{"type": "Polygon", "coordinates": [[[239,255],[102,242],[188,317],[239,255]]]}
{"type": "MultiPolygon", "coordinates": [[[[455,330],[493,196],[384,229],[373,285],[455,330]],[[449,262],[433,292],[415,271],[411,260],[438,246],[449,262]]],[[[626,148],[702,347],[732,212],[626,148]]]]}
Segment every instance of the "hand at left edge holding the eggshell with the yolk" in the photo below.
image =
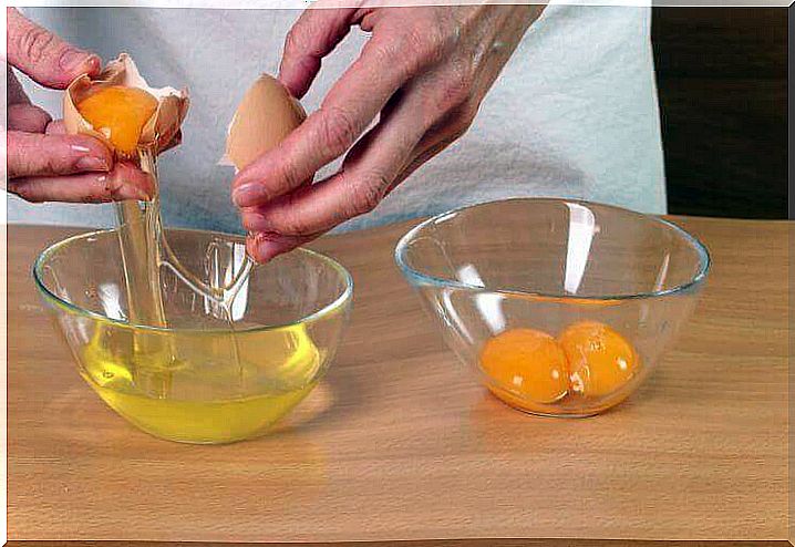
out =
{"type": "Polygon", "coordinates": [[[99,140],[66,135],[63,123],[30,99],[12,66],[41,85],[63,90],[81,74],[95,76],[102,61],[7,9],[8,190],[28,202],[104,203],[149,199],[152,177],[132,164],[114,163],[99,140]]]}

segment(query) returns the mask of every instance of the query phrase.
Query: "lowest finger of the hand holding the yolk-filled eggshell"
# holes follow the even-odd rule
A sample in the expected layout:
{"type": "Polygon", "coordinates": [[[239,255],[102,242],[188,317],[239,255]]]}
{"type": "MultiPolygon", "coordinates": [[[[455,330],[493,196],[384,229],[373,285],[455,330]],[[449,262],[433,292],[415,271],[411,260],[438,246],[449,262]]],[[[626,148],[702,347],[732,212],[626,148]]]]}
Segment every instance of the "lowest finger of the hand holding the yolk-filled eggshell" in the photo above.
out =
{"type": "Polygon", "coordinates": [[[154,195],[155,183],[135,166],[118,163],[110,173],[17,178],[8,182],[8,189],[32,203],[106,203],[148,200],[154,195]]]}

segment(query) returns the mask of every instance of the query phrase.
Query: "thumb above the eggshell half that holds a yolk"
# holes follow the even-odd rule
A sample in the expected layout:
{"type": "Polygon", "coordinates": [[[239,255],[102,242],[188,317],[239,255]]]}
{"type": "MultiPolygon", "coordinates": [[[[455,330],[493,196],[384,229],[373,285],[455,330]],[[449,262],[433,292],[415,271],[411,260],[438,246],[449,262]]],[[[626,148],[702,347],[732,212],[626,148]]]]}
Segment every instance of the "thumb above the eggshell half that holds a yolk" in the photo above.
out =
{"type": "Polygon", "coordinates": [[[13,8],[7,16],[8,62],[40,84],[62,90],[81,74],[100,73],[97,55],[64,42],[13,8]]]}

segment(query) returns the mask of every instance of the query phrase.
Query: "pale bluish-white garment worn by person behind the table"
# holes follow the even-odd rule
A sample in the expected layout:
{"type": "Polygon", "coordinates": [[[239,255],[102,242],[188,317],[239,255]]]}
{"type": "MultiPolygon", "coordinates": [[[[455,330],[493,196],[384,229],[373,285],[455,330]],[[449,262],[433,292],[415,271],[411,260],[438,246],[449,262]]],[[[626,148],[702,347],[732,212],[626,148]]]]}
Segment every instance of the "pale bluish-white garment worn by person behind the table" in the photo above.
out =
{"type": "MultiPolygon", "coordinates": [[[[241,231],[233,172],[217,165],[227,125],[260,72],[276,74],[300,10],[29,8],[40,24],[105,60],[128,52],[154,86],[186,86],[180,147],[161,158],[167,226],[241,231]]],[[[665,211],[660,123],[643,7],[549,6],[486,96],[468,133],[371,214],[342,229],[515,196],[560,196],[665,211]]],[[[302,101],[317,109],[366,40],[354,30],[323,62],[302,101]]],[[[60,92],[25,83],[61,115],[60,92]]],[[[328,175],[337,164],[319,174],[328,175]]],[[[109,205],[9,199],[10,223],[112,226],[109,205]]]]}

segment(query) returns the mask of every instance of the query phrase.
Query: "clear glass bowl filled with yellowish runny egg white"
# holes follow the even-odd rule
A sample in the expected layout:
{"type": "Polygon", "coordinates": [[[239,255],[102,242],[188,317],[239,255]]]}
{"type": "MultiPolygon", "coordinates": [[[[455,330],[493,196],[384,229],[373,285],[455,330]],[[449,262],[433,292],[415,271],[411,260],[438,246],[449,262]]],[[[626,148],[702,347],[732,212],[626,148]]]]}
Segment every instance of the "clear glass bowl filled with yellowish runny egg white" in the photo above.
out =
{"type": "Polygon", "coordinates": [[[131,321],[115,229],[51,246],[33,276],[80,374],[127,421],[187,443],[257,436],[327,371],[348,321],[351,277],[334,260],[298,249],[246,278],[244,238],[195,230],[166,230],[166,238],[200,282],[242,280],[231,306],[162,266],[167,327],[131,321]]]}

